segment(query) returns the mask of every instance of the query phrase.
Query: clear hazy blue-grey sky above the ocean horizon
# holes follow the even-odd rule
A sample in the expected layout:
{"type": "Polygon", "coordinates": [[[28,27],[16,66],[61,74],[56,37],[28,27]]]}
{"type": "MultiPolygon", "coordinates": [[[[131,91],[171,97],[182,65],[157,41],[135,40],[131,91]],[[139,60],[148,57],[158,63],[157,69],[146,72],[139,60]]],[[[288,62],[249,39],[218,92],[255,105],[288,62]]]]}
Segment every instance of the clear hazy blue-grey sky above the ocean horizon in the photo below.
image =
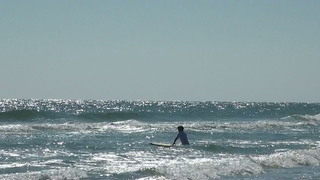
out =
{"type": "Polygon", "coordinates": [[[319,0],[0,0],[0,98],[320,102],[319,0]]]}

